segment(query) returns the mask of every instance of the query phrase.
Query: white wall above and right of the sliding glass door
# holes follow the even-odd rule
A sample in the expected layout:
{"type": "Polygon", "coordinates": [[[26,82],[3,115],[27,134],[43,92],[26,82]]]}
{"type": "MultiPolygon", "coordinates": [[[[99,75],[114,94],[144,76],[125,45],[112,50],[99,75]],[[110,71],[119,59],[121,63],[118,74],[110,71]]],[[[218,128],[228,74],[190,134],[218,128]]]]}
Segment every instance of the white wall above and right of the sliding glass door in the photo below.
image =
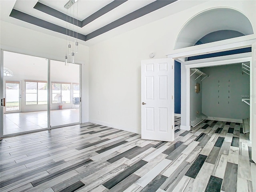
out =
{"type": "MultiPolygon", "coordinates": [[[[64,61],[66,40],[36,32],[4,21],[0,23],[0,48],[21,54],[64,61]]],[[[89,48],[79,45],[76,62],[82,64],[82,122],[88,122],[89,48]]],[[[22,66],[20,66],[22,67],[22,66]]]]}

